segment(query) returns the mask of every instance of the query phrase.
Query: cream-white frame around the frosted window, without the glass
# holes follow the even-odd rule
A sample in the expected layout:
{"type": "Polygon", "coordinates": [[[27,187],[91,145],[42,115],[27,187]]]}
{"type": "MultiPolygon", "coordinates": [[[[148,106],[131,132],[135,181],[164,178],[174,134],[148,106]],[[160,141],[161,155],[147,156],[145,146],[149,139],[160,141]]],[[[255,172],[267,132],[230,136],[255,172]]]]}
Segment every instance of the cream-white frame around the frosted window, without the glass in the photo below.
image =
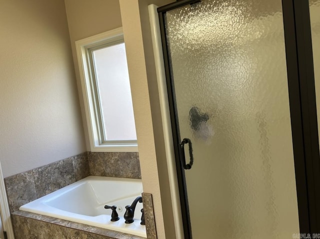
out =
{"type": "Polygon", "coordinates": [[[75,41],[91,151],[138,151],[136,140],[103,141],[103,126],[101,124],[102,118],[99,116],[101,115],[100,105],[98,103],[98,96],[94,86],[95,77],[92,76],[92,65],[89,59],[92,49],[103,45],[112,45],[122,42],[124,42],[122,27],[75,41]]]}

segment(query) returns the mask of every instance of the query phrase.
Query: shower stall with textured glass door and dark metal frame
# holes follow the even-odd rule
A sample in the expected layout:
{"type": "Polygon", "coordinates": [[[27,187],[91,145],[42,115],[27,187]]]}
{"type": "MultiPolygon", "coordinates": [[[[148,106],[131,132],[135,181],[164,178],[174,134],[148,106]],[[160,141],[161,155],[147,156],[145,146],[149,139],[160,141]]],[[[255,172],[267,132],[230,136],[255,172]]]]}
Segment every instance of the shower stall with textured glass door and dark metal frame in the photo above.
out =
{"type": "Polygon", "coordinates": [[[320,0],[157,11],[184,238],[320,232],[320,0]]]}

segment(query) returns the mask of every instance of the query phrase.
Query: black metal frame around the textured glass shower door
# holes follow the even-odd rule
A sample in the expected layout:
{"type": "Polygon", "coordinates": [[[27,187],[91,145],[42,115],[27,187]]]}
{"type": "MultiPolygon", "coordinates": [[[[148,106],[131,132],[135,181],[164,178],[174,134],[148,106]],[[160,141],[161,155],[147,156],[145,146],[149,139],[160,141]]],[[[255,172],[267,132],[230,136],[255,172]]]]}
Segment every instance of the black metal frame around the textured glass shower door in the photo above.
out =
{"type": "MultiPolygon", "coordinates": [[[[192,238],[192,234],[184,169],[179,159],[181,138],[165,35],[165,13],[198,1],[177,0],[157,9],[185,238],[192,238]]],[[[308,0],[282,0],[299,229],[300,233],[312,236],[320,232],[320,154],[308,3],[308,0]]]]}

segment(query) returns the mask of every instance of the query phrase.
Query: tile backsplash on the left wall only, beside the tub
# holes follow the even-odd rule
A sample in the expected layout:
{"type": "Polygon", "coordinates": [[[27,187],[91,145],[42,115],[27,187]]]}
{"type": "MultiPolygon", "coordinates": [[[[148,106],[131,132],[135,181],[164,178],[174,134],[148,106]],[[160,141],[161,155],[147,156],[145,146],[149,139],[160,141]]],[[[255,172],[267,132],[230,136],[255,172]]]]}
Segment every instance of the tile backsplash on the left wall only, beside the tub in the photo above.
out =
{"type": "Polygon", "coordinates": [[[4,178],[10,212],[89,175],[87,152],[4,178]]]}

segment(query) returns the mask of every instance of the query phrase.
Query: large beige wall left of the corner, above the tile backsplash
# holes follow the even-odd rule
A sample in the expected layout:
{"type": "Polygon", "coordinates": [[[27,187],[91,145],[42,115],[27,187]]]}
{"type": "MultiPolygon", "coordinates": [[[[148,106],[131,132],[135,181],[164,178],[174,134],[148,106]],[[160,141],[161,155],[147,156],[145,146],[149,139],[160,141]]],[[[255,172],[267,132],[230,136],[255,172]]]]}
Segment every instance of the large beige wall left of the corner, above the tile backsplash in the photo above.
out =
{"type": "Polygon", "coordinates": [[[64,1],[1,0],[0,29],[4,176],[85,151],[64,1]]]}

